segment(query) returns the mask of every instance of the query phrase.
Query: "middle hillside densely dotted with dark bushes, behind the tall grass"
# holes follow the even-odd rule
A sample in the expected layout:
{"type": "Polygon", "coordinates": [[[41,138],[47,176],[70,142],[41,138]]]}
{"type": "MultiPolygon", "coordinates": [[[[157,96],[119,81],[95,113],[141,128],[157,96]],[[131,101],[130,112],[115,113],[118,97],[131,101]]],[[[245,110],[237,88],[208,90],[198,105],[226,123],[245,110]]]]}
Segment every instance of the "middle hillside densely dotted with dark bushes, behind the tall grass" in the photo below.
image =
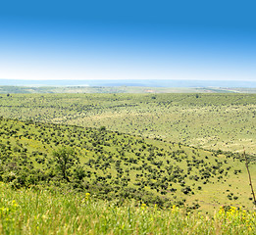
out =
{"type": "Polygon", "coordinates": [[[160,207],[185,205],[188,211],[213,211],[220,205],[252,208],[245,165],[237,154],[144,139],[103,126],[1,118],[0,131],[0,179],[14,188],[89,192],[118,205],[134,199],[160,207]],[[56,159],[63,149],[73,151],[67,177],[56,159]]]}

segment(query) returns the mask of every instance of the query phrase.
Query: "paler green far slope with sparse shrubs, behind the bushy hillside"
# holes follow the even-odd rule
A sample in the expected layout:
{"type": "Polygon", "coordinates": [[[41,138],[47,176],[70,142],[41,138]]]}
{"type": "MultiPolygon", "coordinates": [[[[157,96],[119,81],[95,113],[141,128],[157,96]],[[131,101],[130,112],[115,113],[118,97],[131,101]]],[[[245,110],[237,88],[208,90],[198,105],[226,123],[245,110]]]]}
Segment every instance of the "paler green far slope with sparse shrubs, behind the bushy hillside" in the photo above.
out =
{"type": "Polygon", "coordinates": [[[99,127],[195,147],[256,152],[255,94],[1,95],[5,118],[99,127]]]}

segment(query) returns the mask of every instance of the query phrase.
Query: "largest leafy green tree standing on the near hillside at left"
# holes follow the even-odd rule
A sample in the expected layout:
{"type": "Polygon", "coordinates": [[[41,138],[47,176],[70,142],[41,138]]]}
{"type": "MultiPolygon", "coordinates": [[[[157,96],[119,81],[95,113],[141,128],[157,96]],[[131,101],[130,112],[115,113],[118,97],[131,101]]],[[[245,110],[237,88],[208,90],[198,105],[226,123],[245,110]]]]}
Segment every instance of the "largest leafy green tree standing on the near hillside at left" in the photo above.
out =
{"type": "Polygon", "coordinates": [[[63,178],[70,181],[68,178],[70,169],[77,162],[73,149],[62,147],[57,151],[53,151],[53,159],[63,178]]]}

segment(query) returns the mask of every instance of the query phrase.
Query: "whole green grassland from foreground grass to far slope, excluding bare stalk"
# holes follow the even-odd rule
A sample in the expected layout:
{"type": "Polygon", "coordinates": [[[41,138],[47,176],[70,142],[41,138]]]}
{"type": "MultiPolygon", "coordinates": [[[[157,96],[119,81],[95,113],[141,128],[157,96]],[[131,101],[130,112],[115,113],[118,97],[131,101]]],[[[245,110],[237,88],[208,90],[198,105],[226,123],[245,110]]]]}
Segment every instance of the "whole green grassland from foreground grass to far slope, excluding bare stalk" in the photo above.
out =
{"type": "Polygon", "coordinates": [[[254,94],[2,94],[0,234],[255,234],[242,156],[256,185],[255,106],[254,94]]]}

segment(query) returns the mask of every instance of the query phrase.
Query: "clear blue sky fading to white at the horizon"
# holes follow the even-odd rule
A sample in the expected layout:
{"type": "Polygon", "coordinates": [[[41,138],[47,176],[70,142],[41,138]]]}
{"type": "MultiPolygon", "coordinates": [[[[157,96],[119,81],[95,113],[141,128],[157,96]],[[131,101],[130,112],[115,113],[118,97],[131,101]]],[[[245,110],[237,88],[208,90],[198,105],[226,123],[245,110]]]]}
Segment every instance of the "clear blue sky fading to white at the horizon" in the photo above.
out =
{"type": "Polygon", "coordinates": [[[256,80],[254,1],[2,1],[0,78],[256,80]]]}

